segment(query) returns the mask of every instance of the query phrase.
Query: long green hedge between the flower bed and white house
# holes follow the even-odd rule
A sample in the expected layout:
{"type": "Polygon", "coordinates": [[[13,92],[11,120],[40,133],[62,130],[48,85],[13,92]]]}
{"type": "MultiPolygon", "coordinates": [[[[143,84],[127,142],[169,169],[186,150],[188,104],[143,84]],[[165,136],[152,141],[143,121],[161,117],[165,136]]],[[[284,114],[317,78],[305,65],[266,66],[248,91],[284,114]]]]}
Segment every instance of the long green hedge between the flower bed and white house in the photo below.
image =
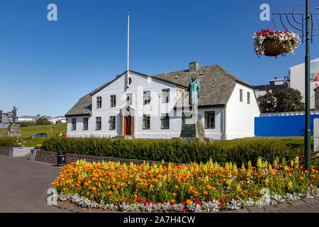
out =
{"type": "Polygon", "coordinates": [[[215,143],[196,143],[172,140],[111,140],[109,138],[47,138],[42,150],[58,151],[82,155],[121,157],[139,160],[165,162],[207,162],[225,164],[236,162],[241,165],[251,160],[253,164],[259,156],[273,161],[277,156],[303,155],[301,140],[221,140],[215,143]]]}

